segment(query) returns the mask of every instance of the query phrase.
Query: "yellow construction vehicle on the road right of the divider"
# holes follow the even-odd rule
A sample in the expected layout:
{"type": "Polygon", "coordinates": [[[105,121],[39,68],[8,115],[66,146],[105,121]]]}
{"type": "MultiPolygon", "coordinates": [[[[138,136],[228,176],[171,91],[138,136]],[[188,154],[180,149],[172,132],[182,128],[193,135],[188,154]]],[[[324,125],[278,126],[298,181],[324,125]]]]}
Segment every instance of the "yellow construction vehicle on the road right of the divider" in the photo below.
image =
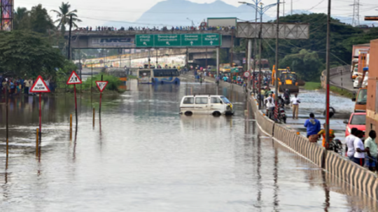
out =
{"type": "Polygon", "coordinates": [[[297,74],[293,71],[290,71],[290,67],[286,69],[278,69],[273,66],[272,71],[272,83],[274,85],[275,76],[278,74],[278,83],[279,83],[279,92],[284,92],[286,89],[290,93],[299,92],[299,85],[297,83],[297,74]]]}

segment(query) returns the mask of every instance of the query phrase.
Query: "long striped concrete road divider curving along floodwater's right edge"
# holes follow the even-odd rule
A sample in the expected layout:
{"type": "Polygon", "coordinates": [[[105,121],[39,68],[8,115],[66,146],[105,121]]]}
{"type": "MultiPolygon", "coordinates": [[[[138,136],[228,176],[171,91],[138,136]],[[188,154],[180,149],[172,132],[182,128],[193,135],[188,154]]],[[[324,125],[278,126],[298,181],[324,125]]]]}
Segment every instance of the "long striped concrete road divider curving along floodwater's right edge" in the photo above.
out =
{"type": "MultiPolygon", "coordinates": [[[[193,75],[182,77],[194,79],[193,75]]],[[[205,80],[215,83],[214,78],[205,77],[205,80]]],[[[221,87],[229,87],[236,92],[246,93],[245,88],[240,85],[225,82],[220,82],[219,85],[221,87]]],[[[283,146],[293,150],[298,155],[302,155],[302,157],[305,157],[318,167],[325,169],[325,171],[365,193],[368,197],[378,200],[378,178],[376,174],[337,153],[325,150],[325,148],[318,146],[316,143],[309,143],[305,136],[297,134],[296,131],[285,125],[270,120],[258,110],[258,103],[253,96],[248,95],[248,101],[251,104],[255,120],[262,132],[272,136],[272,139],[283,146]]]]}

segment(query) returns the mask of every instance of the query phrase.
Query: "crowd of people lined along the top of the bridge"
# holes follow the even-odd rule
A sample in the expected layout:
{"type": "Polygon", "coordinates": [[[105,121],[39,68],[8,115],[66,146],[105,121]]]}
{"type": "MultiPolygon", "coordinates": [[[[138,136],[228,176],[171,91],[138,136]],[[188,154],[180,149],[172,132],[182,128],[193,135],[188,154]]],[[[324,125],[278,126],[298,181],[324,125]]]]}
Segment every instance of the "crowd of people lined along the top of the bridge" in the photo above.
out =
{"type": "Polygon", "coordinates": [[[74,31],[230,31],[235,27],[194,27],[194,26],[180,26],[180,27],[108,27],[108,26],[96,26],[96,27],[79,27],[74,31]]]}

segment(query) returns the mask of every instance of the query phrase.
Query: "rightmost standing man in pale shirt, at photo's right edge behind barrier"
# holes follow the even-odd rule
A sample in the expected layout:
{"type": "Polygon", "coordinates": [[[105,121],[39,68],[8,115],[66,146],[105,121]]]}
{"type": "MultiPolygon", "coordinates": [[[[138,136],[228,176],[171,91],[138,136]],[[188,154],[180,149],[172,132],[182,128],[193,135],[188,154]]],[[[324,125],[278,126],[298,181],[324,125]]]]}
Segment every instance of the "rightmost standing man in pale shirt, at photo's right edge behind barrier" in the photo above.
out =
{"type": "Polygon", "coordinates": [[[377,167],[377,143],[375,143],[375,138],[377,134],[374,130],[369,132],[369,138],[365,140],[365,166],[369,168],[370,171],[375,171],[377,167]]]}

